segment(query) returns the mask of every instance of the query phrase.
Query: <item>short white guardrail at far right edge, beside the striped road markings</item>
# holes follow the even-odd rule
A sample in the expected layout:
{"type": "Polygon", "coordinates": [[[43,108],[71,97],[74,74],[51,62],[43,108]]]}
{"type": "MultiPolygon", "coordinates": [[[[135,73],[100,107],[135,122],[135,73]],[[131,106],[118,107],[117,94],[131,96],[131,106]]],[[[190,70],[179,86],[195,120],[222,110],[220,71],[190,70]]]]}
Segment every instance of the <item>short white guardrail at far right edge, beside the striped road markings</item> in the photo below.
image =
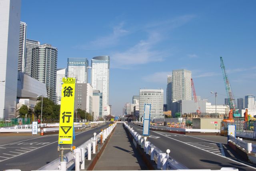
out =
{"type": "Polygon", "coordinates": [[[228,135],[228,141],[232,141],[238,147],[242,147],[242,149],[245,149],[247,153],[256,153],[256,145],[252,145],[252,143],[246,143],[242,138],[235,138],[231,135],[228,135]]]}

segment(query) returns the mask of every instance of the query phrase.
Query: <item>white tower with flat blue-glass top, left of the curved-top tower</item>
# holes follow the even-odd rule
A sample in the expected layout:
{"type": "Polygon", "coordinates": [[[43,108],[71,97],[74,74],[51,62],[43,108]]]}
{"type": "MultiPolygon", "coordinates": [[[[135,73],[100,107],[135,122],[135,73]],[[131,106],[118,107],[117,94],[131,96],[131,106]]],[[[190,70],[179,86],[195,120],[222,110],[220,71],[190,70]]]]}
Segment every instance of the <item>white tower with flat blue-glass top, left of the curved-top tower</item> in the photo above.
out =
{"type": "Polygon", "coordinates": [[[76,78],[76,83],[88,83],[87,58],[68,58],[67,77],[76,78]]]}

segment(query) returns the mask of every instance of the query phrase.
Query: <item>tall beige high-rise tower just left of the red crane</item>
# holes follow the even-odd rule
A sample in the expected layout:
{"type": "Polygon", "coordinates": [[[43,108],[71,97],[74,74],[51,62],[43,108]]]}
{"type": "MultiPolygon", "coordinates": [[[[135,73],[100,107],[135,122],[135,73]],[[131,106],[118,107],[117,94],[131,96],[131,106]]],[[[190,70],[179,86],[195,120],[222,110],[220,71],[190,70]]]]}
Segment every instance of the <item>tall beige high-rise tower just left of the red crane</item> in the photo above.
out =
{"type": "Polygon", "coordinates": [[[191,100],[191,71],[172,71],[172,100],[191,100]]]}

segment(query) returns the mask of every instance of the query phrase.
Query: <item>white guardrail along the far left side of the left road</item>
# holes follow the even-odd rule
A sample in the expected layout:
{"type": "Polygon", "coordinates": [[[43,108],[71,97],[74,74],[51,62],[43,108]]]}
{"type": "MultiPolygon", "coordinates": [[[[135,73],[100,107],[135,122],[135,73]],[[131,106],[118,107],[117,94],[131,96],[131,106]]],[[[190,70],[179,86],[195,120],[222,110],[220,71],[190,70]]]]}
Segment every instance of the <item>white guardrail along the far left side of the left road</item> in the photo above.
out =
{"type": "MultiPolygon", "coordinates": [[[[74,127],[76,129],[84,129],[86,127],[90,127],[91,124],[99,124],[103,123],[103,121],[95,121],[90,122],[89,124],[85,123],[74,123],[74,127]]],[[[41,127],[48,127],[43,128],[44,132],[54,132],[59,130],[59,123],[41,123],[38,124],[38,132],[40,132],[41,127]]],[[[32,132],[32,124],[29,125],[15,125],[13,127],[2,127],[0,128],[0,133],[7,133],[7,132],[32,132]]]]}

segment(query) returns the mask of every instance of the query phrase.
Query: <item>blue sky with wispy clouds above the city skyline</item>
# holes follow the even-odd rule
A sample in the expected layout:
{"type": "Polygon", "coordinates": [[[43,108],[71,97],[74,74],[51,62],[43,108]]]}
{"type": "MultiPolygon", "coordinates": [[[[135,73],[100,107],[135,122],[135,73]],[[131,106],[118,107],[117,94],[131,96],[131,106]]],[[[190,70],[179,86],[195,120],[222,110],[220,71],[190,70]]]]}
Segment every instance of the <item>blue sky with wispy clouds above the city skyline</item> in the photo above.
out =
{"type": "MultiPolygon", "coordinates": [[[[27,38],[67,58],[110,56],[110,104],[122,113],[140,88],[162,88],[175,69],[192,71],[196,93],[224,104],[223,57],[236,97],[256,95],[254,0],[22,0],[27,38]]],[[[166,98],[166,97],[164,97],[166,98]]]]}

